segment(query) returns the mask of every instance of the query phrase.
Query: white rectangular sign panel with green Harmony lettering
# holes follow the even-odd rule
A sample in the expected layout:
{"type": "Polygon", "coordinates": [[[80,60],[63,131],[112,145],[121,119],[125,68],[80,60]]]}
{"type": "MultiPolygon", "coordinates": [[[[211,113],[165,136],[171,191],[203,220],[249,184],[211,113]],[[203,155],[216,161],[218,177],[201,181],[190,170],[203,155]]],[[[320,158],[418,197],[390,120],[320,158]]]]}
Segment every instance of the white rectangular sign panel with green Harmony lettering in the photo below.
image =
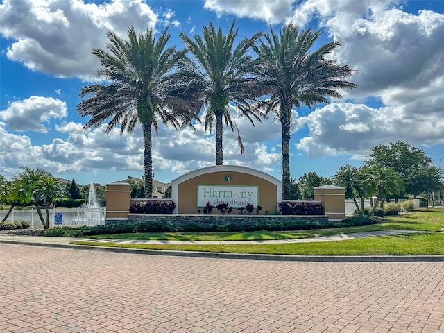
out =
{"type": "Polygon", "coordinates": [[[219,203],[228,203],[233,208],[243,208],[250,204],[259,205],[258,186],[236,185],[197,185],[197,207],[210,203],[214,207],[219,203]]]}

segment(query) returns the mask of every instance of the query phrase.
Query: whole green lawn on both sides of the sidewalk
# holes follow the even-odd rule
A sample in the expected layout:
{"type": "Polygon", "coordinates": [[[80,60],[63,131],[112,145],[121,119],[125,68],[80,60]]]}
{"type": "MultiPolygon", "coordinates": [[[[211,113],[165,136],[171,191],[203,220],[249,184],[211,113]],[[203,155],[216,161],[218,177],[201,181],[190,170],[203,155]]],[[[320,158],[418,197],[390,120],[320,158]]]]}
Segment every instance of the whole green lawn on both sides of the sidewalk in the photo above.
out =
{"type": "Polygon", "coordinates": [[[318,237],[375,230],[423,230],[429,234],[404,234],[395,236],[350,239],[293,244],[217,244],[217,245],[157,245],[115,244],[113,242],[73,241],[71,244],[140,248],[150,250],[203,251],[218,253],[256,253],[271,255],[444,255],[444,210],[416,211],[402,216],[389,217],[385,223],[363,227],[332,228],[286,232],[182,232],[176,234],[120,234],[94,238],[169,239],[169,240],[253,240],[318,237]],[[124,238],[128,237],[128,238],[124,238]],[[137,238],[135,238],[137,237],[137,238]]]}

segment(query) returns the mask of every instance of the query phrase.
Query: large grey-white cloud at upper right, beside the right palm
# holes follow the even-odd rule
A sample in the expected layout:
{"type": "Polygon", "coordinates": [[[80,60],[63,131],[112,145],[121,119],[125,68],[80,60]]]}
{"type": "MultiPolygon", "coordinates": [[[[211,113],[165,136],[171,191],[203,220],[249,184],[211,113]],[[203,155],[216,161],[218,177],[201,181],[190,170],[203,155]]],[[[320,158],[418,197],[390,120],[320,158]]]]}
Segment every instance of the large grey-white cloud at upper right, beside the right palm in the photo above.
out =
{"type": "Polygon", "coordinates": [[[334,57],[357,69],[352,80],[358,88],[348,96],[397,105],[444,91],[443,14],[392,8],[351,25],[335,19],[326,23],[343,44],[334,57]]]}

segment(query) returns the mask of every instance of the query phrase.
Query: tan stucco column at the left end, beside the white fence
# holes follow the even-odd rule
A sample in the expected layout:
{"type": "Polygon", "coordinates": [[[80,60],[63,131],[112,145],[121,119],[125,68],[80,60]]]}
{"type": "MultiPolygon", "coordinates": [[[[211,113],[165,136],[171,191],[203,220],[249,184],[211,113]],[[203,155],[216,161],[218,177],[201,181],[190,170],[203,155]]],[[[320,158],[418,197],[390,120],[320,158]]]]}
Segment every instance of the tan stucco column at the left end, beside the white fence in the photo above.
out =
{"type": "Polygon", "coordinates": [[[113,182],[106,185],[106,219],[128,219],[130,212],[130,185],[113,182]]]}

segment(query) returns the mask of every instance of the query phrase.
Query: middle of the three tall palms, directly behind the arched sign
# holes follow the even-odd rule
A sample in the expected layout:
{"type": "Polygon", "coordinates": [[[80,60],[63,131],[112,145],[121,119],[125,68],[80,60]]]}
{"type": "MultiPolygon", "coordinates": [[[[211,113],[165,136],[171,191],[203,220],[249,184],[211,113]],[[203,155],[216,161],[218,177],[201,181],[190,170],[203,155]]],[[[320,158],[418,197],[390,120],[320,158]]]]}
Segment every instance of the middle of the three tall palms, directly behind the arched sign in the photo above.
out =
{"type": "Polygon", "coordinates": [[[194,39],[191,39],[185,33],[180,33],[195,61],[188,56],[180,61],[176,83],[198,94],[202,105],[209,106],[205,114],[205,131],[211,133],[216,120],[216,165],[223,164],[224,122],[225,126],[237,133],[237,143],[241,153],[244,153],[239,128],[229,103],[232,102],[239,116],[247,117],[253,126],[255,120],[261,121],[260,117],[264,117],[264,113],[252,105],[252,102],[259,101],[263,92],[253,75],[253,56],[248,53],[262,33],[244,38],[234,47],[238,33],[238,30],[234,30],[234,23],[226,35],[223,35],[221,28],[216,31],[212,23],[203,26],[203,37],[194,35],[194,39]]]}

